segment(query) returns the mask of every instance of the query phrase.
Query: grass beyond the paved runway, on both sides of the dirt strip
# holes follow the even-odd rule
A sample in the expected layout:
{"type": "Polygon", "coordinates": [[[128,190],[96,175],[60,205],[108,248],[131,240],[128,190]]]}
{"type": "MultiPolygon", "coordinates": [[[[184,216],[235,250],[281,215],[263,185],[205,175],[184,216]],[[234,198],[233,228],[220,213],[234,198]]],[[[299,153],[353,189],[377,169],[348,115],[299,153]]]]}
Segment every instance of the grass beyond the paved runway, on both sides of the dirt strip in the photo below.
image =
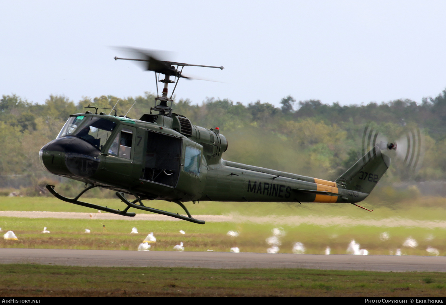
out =
{"type": "MultiPolygon", "coordinates": [[[[271,245],[266,239],[272,236],[272,229],[280,227],[285,232],[279,237],[279,253],[292,253],[293,245],[303,243],[305,253],[323,254],[330,247],[330,254],[346,254],[352,239],[369,254],[395,254],[397,249],[402,255],[436,255],[427,248],[435,248],[438,255],[446,255],[446,226],[443,219],[445,211],[439,206],[442,198],[422,198],[418,204],[413,202],[407,209],[392,209],[379,206],[373,212],[367,212],[352,205],[302,204],[286,205],[281,203],[223,203],[200,202],[192,205],[194,214],[239,214],[245,216],[264,216],[280,219],[283,215],[300,215],[301,217],[320,217],[321,223],[308,224],[280,223],[272,221],[255,223],[212,223],[198,225],[186,221],[136,221],[136,220],[97,220],[97,219],[54,219],[54,218],[13,218],[0,217],[2,231],[12,230],[18,240],[0,240],[0,247],[24,248],[69,248],[69,249],[108,249],[136,250],[145,236],[153,232],[157,243],[152,251],[171,251],[173,246],[183,242],[186,251],[229,251],[231,247],[239,247],[242,252],[266,252],[271,245]],[[437,202],[433,206],[425,206],[423,202],[437,202]],[[267,214],[269,212],[269,214],[267,214]],[[330,223],[328,220],[342,216],[343,223],[330,223]],[[347,218],[346,218],[347,217],[347,218]],[[355,220],[349,225],[348,220],[355,220]],[[412,226],[395,225],[396,220],[404,223],[411,220],[412,226]],[[367,221],[368,225],[358,224],[367,221]],[[417,222],[424,225],[417,225],[417,222]],[[425,223],[432,224],[431,227],[425,223]],[[378,224],[379,225],[376,225],[378,224]],[[415,225],[413,225],[415,223],[415,225]],[[372,225],[371,225],[372,224],[372,225]],[[105,230],[103,229],[105,225],[105,230]],[[42,234],[47,227],[50,234],[42,234]],[[139,234],[130,234],[136,227],[139,234]],[[84,233],[85,229],[90,234],[84,233]],[[185,235],[179,233],[186,231],[185,235]],[[227,232],[233,230],[240,233],[231,238],[227,232]],[[385,239],[383,234],[388,238],[385,239]],[[404,246],[405,241],[412,238],[417,246],[404,246]]],[[[90,202],[119,208],[119,200],[91,199],[90,202]]],[[[154,207],[169,205],[165,202],[151,202],[154,207]]],[[[366,203],[364,203],[365,205],[366,203]]],[[[400,203],[401,205],[401,203],[400,203]]],[[[170,203],[170,206],[173,206],[170,203]]],[[[3,197],[0,199],[1,210],[47,210],[95,212],[94,210],[61,202],[55,198],[3,197]]],[[[175,210],[173,210],[175,211],[175,210]]]]}

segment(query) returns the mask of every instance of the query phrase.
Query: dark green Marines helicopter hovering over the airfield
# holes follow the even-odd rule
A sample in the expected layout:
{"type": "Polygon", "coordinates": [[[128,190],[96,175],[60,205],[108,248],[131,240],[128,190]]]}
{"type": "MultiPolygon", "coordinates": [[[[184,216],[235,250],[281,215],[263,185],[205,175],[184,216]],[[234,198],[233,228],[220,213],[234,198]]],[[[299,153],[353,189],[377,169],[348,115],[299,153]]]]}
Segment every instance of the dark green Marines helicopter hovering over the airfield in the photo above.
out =
{"type": "Polygon", "coordinates": [[[383,142],[374,145],[335,181],[225,161],[223,153],[228,142],[218,127],[195,126],[186,116],[172,112],[178,80],[190,78],[182,74],[185,66],[221,70],[223,66],[169,62],[149,50],[131,51],[139,58],[115,60],[138,61],[145,70],[154,71],[157,82],[164,83],[162,94],[158,94],[157,85],[154,107],[139,120],[117,115],[115,107],[90,105],[85,108],[94,109],[94,113],[70,115],[56,139],[39,152],[46,171],[85,183],[75,198],[66,198],[54,190],[54,185],[46,185],[60,200],[122,216],[135,216],[128,212],[134,208],[204,224],[192,217],[183,202],[325,202],[359,206],[357,203],[367,198],[390,166],[390,157],[383,151],[396,149],[396,144],[383,142]],[[164,78],[160,78],[161,74],[164,78]],[[168,97],[168,86],[173,82],[175,87],[168,97]],[[95,187],[116,191],[125,204],[124,210],[78,200],[95,187]],[[125,194],[136,199],[130,201],[125,194]],[[178,204],[187,216],[143,204],[154,199],[178,204]]]}

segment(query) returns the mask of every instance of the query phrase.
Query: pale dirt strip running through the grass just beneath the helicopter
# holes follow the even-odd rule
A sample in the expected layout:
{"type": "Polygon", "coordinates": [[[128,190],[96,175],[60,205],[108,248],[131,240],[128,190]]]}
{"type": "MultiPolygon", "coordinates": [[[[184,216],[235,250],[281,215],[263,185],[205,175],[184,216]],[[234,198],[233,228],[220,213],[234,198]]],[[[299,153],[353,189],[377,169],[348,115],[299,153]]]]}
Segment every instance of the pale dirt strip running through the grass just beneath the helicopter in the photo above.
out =
{"type": "MultiPolygon", "coordinates": [[[[41,211],[0,211],[0,217],[23,218],[71,218],[71,219],[118,219],[118,220],[152,220],[152,221],[180,221],[180,219],[160,214],[136,214],[135,217],[124,217],[111,213],[75,213],[75,212],[41,212],[41,211]]],[[[243,215],[193,215],[196,219],[206,222],[232,222],[232,223],[273,223],[281,225],[298,226],[300,224],[313,224],[322,227],[340,226],[368,226],[368,227],[421,227],[446,228],[444,220],[414,220],[408,218],[384,219],[352,219],[343,216],[243,216],[243,215]]]]}

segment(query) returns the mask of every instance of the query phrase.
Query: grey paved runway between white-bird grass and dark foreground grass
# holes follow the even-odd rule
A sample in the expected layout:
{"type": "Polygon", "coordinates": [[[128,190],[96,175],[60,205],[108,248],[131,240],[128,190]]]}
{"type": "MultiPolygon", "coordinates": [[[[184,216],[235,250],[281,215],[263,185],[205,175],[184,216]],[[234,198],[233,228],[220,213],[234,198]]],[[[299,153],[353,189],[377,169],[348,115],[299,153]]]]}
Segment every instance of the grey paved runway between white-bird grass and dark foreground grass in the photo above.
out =
{"type": "Polygon", "coordinates": [[[102,267],[306,268],[446,272],[446,257],[444,256],[0,249],[0,264],[15,263],[102,267]]]}

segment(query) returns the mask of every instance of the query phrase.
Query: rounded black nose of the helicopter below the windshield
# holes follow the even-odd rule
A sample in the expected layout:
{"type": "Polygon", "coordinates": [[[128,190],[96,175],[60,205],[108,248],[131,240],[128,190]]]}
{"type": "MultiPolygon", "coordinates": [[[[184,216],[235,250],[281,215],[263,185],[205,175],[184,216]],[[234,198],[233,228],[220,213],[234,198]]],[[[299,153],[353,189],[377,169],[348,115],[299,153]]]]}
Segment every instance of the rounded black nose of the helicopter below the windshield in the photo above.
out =
{"type": "Polygon", "coordinates": [[[52,140],[41,148],[39,157],[45,170],[65,177],[87,178],[99,168],[99,150],[75,136],[52,140]]]}

